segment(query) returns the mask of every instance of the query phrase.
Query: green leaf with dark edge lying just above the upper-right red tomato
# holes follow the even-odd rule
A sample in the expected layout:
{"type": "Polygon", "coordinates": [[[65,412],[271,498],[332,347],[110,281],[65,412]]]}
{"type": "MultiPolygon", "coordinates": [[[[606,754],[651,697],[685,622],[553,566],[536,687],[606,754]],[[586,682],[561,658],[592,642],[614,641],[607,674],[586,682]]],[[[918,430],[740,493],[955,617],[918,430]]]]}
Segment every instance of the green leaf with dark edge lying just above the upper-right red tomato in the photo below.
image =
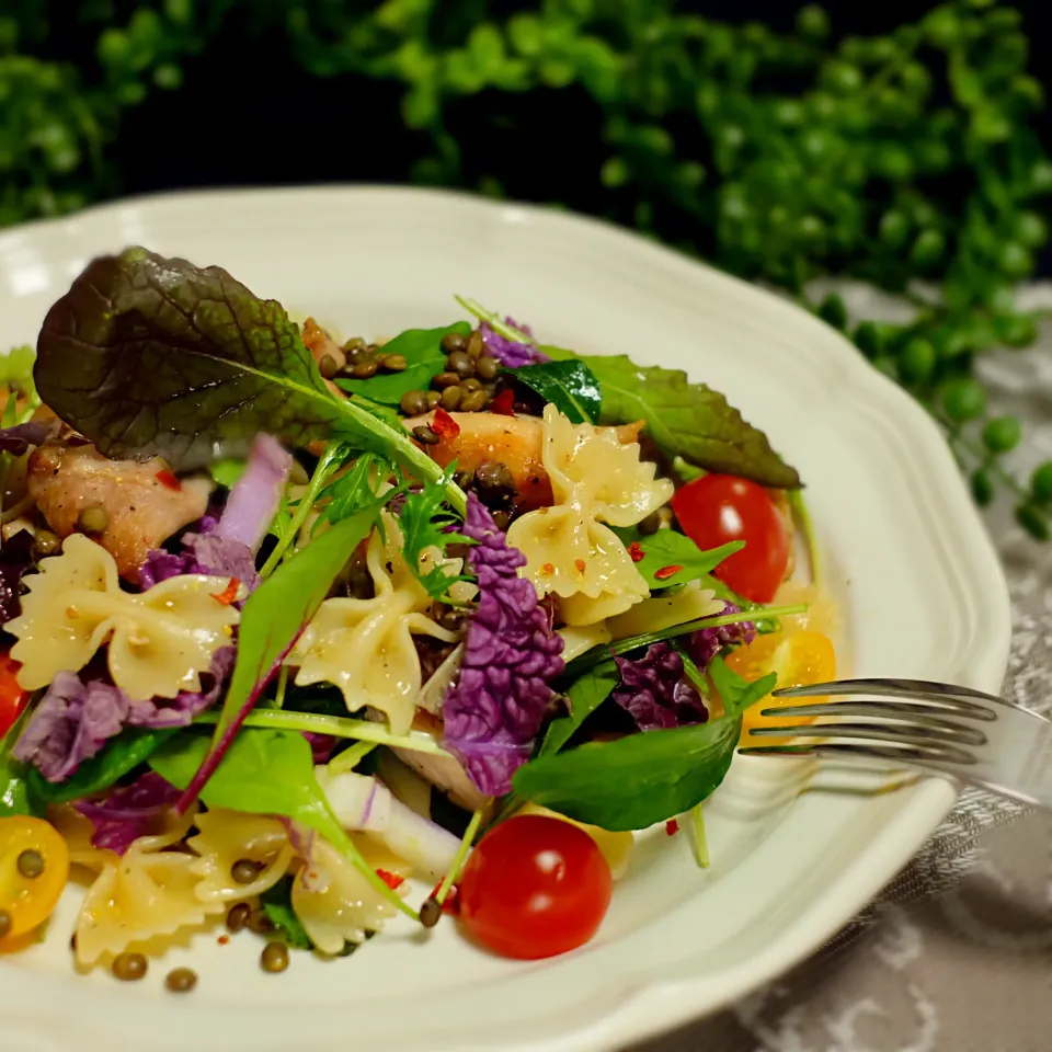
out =
{"type": "MultiPolygon", "coordinates": [[[[560,347],[540,347],[552,358],[579,357],[560,347]]],[[[762,485],[796,490],[800,476],[778,456],[767,436],[742,419],[727,399],[683,369],[636,365],[627,355],[588,355],[603,388],[601,423],[647,420],[647,431],[670,459],[683,457],[707,471],[724,471],[762,485]]]]}

